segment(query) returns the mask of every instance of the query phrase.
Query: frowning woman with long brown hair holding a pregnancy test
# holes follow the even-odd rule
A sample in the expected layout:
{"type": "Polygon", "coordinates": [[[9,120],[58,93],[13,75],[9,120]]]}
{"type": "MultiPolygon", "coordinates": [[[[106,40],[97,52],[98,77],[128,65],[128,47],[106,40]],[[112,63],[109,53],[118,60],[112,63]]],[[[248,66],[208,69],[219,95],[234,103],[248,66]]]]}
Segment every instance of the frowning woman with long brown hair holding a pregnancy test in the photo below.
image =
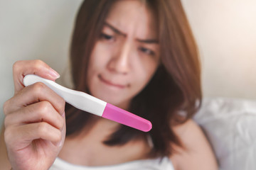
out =
{"type": "Polygon", "coordinates": [[[22,84],[26,74],[58,73],[40,60],[16,62],[15,94],[4,104],[6,167],[217,169],[191,120],[201,106],[200,67],[180,1],[84,1],[70,60],[74,89],[150,120],[152,130],[65,108],[44,84],[22,84]]]}

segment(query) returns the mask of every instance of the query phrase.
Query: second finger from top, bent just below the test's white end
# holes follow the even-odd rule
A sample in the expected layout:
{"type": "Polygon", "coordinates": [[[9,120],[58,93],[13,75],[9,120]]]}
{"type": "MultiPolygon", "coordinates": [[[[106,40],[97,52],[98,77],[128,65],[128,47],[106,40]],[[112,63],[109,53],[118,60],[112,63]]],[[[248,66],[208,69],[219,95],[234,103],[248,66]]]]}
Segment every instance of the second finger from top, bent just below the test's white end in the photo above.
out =
{"type": "Polygon", "coordinates": [[[62,115],[65,110],[65,101],[56,94],[46,84],[38,82],[27,86],[19,91],[14,97],[4,103],[4,113],[7,115],[18,111],[20,108],[26,107],[39,101],[48,101],[53,108],[62,115]],[[15,104],[14,104],[15,103],[15,104]]]}

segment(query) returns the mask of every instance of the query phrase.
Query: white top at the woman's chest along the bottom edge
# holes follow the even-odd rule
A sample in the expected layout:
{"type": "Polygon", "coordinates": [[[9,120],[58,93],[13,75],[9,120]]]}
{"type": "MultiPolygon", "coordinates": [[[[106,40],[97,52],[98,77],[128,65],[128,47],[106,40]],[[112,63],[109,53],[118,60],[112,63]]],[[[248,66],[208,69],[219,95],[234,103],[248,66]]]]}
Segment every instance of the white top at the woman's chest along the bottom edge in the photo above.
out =
{"type": "Polygon", "coordinates": [[[144,159],[124,164],[110,166],[81,166],[70,164],[63,159],[56,158],[49,170],[174,170],[174,166],[168,157],[163,159],[144,159]]]}

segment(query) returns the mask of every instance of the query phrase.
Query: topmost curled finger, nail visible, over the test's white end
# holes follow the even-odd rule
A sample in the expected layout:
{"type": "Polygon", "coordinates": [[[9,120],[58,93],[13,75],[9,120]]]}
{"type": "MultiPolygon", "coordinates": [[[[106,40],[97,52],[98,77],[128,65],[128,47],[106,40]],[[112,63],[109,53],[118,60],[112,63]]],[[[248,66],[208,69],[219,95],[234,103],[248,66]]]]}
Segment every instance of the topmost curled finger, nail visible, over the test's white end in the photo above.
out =
{"type": "Polygon", "coordinates": [[[15,62],[13,65],[14,90],[15,94],[23,89],[23,78],[27,74],[36,74],[40,77],[55,80],[60,74],[51,69],[48,64],[41,60],[23,60],[15,62]]]}

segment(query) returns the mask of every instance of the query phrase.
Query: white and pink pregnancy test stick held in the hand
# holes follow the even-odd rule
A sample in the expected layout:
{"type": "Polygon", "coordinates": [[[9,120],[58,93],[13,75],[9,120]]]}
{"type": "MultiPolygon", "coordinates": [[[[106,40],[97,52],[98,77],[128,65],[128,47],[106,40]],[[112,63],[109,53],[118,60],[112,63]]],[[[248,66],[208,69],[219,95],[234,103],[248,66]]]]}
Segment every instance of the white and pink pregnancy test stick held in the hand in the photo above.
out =
{"type": "Polygon", "coordinates": [[[64,98],[67,103],[70,103],[75,108],[79,108],[82,111],[99,115],[103,118],[113,120],[117,123],[122,123],[129,127],[148,132],[152,128],[152,124],[149,120],[124,111],[122,108],[113,106],[110,103],[95,98],[89,94],[85,94],[82,91],[75,91],[72,89],[65,88],[60,86],[60,84],[55,83],[54,81],[43,79],[34,74],[28,74],[23,79],[23,84],[29,86],[35,84],[36,82],[42,82],[46,84],[50,89],[55,91],[56,94],[64,98]]]}

